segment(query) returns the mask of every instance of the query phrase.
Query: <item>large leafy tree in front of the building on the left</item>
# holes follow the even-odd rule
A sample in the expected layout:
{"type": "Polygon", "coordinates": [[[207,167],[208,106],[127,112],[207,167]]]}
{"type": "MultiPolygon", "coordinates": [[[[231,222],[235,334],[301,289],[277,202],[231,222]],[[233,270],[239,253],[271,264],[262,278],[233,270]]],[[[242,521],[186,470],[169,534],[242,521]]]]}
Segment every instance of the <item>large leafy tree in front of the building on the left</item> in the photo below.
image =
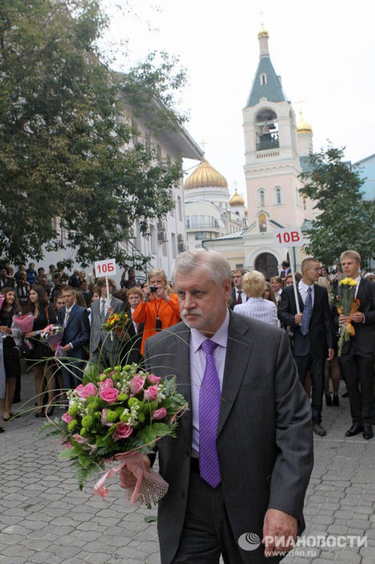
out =
{"type": "Polygon", "coordinates": [[[157,100],[157,126],[178,126],[167,104],[183,75],[166,55],[156,67],[155,54],[127,75],[112,72],[97,47],[107,23],[95,0],[0,6],[0,255],[8,261],[40,260],[43,245],[61,246],[58,217],[82,266],[109,256],[124,266],[130,257],[119,243],[135,219],[145,234],[149,219],[171,209],[180,163],[130,147],[134,131],[117,117],[126,96],[141,109],[157,100]]]}

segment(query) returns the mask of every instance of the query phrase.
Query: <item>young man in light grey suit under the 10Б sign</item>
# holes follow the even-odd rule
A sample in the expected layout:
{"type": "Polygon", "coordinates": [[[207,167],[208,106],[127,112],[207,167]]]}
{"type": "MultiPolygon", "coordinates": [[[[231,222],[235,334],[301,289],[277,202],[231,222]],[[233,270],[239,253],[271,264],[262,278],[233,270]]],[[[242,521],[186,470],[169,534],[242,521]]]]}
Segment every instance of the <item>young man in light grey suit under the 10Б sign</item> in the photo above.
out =
{"type": "MultiPolygon", "coordinates": [[[[110,285],[116,288],[111,279],[108,281],[110,285]]],[[[123,345],[118,341],[113,331],[111,333],[105,331],[102,329],[102,325],[110,315],[123,311],[124,303],[121,299],[111,296],[108,306],[107,287],[104,277],[98,278],[96,287],[99,290],[100,298],[91,304],[90,358],[93,362],[99,362],[100,365],[108,367],[118,364],[123,345]]]]}

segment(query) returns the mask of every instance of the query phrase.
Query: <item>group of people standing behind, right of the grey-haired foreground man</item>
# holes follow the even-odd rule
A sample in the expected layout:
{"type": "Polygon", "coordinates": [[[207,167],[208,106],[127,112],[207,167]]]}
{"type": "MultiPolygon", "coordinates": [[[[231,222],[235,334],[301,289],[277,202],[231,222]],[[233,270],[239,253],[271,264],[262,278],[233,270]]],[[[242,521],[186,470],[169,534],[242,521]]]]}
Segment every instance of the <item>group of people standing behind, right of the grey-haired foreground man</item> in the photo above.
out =
{"type": "Polygon", "coordinates": [[[363,433],[365,439],[373,437],[375,276],[361,276],[360,263],[360,255],[347,250],[336,272],[329,275],[327,267],[314,257],[303,260],[302,272],[294,273],[299,311],[289,262],[284,261],[280,275],[270,281],[257,271],[232,271],[232,309],[288,332],[299,379],[311,397],[313,429],[321,437],[327,434],[321,425],[323,399],[327,407],[339,407],[340,380],[346,383],[343,396],[349,398],[352,417],[346,436],[363,433]],[[360,306],[350,316],[355,334],[338,358],[339,334],[347,321],[337,308],[338,284],[343,277],[357,282],[355,297],[360,306]]]}

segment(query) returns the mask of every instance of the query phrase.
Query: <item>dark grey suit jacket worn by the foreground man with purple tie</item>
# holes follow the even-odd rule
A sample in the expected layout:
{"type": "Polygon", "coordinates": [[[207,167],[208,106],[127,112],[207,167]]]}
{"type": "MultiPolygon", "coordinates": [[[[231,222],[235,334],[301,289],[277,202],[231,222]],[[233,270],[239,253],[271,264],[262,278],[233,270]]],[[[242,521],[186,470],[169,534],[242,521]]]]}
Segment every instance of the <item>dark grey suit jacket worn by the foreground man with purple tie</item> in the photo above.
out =
{"type": "MultiPolygon", "coordinates": [[[[175,374],[191,402],[190,331],[179,323],[150,337],[145,363],[158,376],[175,374]]],[[[162,564],[178,549],[187,505],[192,413],[179,420],[177,438],[158,443],[160,474],[170,484],[159,502],[162,564]]],[[[230,311],[217,450],[222,492],[233,535],[262,538],[268,508],[282,510],[304,528],[303,501],[313,464],[311,407],[299,383],[285,331],[230,311]]],[[[241,551],[243,562],[270,562],[264,547],[241,551]]],[[[276,562],[280,558],[271,558],[276,562]]]]}

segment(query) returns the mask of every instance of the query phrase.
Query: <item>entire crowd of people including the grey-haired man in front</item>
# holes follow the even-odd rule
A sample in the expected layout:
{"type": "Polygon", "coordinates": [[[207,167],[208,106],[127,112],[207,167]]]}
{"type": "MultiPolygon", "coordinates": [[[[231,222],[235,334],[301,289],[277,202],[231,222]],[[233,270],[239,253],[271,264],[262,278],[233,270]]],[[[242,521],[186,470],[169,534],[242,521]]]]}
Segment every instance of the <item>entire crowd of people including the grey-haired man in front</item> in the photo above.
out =
{"type": "MultiPolygon", "coordinates": [[[[210,562],[220,552],[239,561],[236,539],[244,530],[271,539],[261,548],[266,556],[288,552],[290,546],[276,547],[272,539],[303,530],[312,431],[326,434],[323,399],[339,407],[341,378],[352,419],[346,436],[373,437],[375,282],[360,274],[354,250],[342,253],[334,277],[307,257],[294,285],[288,262],[282,266],[268,281],[258,271],[231,272],[217,253],[194,250],[176,259],[173,285],[159,268],[143,284],[129,271],[120,288],[111,278],[83,271],[67,276],[53,265],[47,275],[32,263],[14,276],[7,269],[1,275],[5,421],[15,416],[25,339],[32,343],[27,362],[36,417],[50,416],[56,389],[63,394],[76,387],[91,363],[104,369],[142,362],[158,376],[177,377],[190,409],[177,438],[157,445],[160,473],[170,484],[158,509],[163,562],[206,562],[199,558],[207,550],[210,562]],[[358,307],[349,316],[355,331],[338,358],[339,333],[348,321],[336,299],[342,277],[355,286],[358,307]],[[22,334],[15,319],[26,312],[33,327],[22,334]],[[122,312],[121,331],[106,331],[106,321],[122,312]],[[63,327],[58,362],[55,347],[40,338],[51,323],[63,327]]],[[[144,456],[145,468],[152,460],[144,456]]],[[[120,483],[134,486],[134,477],[121,472],[120,483]]]]}

